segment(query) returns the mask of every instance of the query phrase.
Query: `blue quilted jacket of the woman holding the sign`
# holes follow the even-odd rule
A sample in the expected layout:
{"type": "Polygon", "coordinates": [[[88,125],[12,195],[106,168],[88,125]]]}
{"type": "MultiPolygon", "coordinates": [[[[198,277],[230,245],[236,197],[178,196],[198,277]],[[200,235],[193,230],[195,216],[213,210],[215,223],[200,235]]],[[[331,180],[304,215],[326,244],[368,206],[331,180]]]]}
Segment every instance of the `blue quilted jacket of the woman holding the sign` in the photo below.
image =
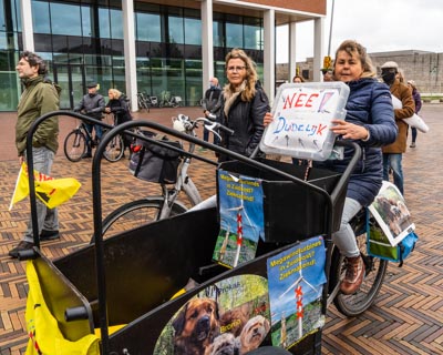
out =
{"type": "MultiPolygon", "coordinates": [[[[398,128],[387,84],[373,78],[363,78],[351,81],[348,85],[350,93],[346,104],[346,121],[364,125],[370,132],[370,138],[367,142],[354,141],[361,146],[362,155],[349,180],[347,196],[368,206],[382,185],[381,146],[395,141],[398,128]]],[[[315,166],[342,172],[348,166],[351,155],[352,150],[346,149],[343,160],[315,162],[315,166]]]]}

